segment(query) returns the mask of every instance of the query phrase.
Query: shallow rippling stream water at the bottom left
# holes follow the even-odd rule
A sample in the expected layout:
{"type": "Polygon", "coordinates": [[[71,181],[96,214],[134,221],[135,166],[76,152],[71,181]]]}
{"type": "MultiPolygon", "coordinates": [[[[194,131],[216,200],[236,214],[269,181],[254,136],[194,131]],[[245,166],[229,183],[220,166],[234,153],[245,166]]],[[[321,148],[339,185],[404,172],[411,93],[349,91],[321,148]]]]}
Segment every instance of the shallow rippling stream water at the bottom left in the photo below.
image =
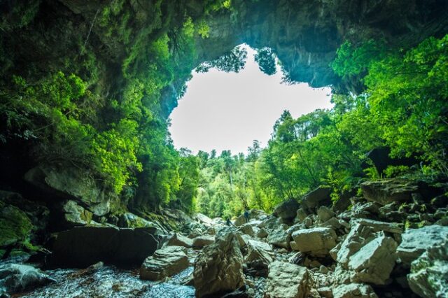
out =
{"type": "Polygon", "coordinates": [[[57,283],[15,297],[33,298],[193,298],[195,289],[181,285],[193,267],[164,282],[141,281],[139,270],[104,266],[97,271],[56,269],[46,271],[57,283]]]}

